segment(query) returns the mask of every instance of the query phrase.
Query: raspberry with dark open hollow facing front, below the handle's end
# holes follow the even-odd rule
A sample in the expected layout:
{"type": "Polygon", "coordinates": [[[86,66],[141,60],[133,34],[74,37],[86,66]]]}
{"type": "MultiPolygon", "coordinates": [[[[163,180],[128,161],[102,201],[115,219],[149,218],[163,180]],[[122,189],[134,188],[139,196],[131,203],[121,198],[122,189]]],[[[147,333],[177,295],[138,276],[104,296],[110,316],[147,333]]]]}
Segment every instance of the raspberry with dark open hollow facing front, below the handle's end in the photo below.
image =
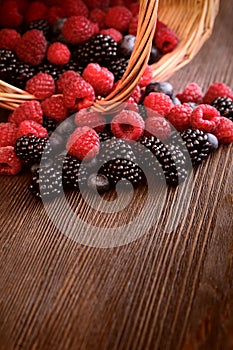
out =
{"type": "Polygon", "coordinates": [[[138,140],[144,131],[145,122],[137,112],[123,110],[111,122],[111,131],[123,140],[138,140]]]}

